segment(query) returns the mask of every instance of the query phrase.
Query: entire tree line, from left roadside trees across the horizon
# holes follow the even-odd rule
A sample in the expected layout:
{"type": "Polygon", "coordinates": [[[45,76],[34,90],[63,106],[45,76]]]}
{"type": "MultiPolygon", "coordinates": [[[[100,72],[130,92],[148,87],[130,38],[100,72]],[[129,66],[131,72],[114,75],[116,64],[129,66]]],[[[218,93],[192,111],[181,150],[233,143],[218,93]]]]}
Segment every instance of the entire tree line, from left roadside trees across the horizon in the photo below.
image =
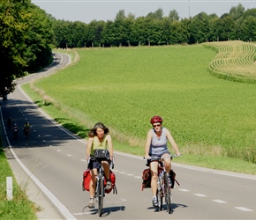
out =
{"type": "Polygon", "coordinates": [[[206,41],[256,41],[256,8],[242,4],[219,18],[200,12],[180,19],[176,10],[147,16],[117,12],[114,20],[90,23],[59,20],[31,0],[0,0],[0,97],[13,92],[13,80],[52,61],[52,48],[129,47],[194,44],[206,41]]]}

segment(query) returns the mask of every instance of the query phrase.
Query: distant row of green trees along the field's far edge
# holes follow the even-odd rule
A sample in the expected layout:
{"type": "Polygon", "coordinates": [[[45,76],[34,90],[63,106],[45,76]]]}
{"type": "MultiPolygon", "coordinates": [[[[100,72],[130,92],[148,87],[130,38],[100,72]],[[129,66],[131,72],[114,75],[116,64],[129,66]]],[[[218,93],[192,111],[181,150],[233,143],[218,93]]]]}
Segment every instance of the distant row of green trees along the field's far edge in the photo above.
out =
{"type": "Polygon", "coordinates": [[[205,12],[179,19],[177,11],[164,17],[162,9],[145,17],[125,16],[118,11],[111,21],[89,24],[53,20],[56,48],[118,47],[139,45],[194,44],[206,41],[256,40],[256,8],[245,11],[242,4],[219,18],[205,12]]]}

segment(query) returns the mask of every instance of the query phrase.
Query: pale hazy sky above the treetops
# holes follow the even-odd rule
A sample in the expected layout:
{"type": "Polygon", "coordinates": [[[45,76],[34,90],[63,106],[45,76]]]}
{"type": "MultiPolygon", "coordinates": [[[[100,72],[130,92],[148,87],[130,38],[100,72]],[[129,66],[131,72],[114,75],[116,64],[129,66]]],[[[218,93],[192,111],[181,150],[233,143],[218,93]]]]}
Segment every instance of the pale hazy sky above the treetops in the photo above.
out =
{"type": "Polygon", "coordinates": [[[31,2],[56,19],[82,21],[87,24],[94,19],[114,20],[120,10],[124,10],[125,16],[132,13],[138,18],[161,8],[163,16],[168,16],[169,11],[176,10],[180,18],[189,18],[202,11],[208,15],[215,13],[221,17],[238,4],[242,4],[245,10],[256,8],[256,0],[32,0],[31,2]]]}

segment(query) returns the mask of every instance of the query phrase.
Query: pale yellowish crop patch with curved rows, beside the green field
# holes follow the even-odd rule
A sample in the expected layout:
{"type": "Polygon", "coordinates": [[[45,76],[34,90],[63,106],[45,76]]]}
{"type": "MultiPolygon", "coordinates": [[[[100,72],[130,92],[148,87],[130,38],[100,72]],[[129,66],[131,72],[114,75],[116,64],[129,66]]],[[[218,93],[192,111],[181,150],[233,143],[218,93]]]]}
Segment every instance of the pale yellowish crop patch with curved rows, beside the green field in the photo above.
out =
{"type": "Polygon", "coordinates": [[[256,83],[256,47],[243,41],[222,41],[203,44],[217,52],[209,63],[215,77],[244,83],[256,83]]]}

